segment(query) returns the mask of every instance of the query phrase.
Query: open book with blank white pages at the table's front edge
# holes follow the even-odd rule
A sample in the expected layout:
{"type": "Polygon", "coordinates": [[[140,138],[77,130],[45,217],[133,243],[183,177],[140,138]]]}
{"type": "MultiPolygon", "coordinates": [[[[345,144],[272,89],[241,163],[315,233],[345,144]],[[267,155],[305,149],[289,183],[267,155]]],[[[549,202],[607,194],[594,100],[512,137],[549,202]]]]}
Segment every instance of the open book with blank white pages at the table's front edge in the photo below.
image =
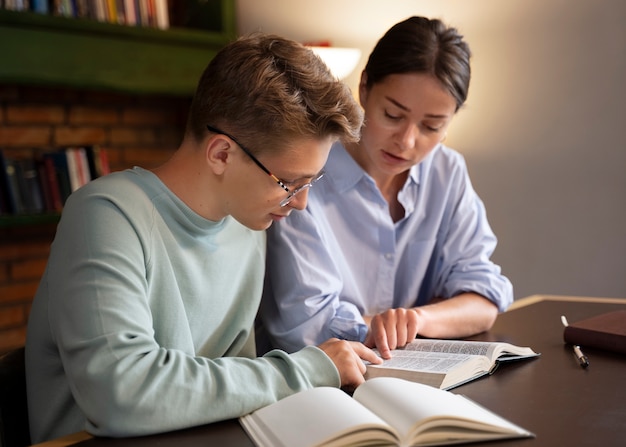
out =
{"type": "Polygon", "coordinates": [[[464,396],[379,377],[313,388],[240,418],[258,447],[431,446],[534,436],[464,396]]]}

